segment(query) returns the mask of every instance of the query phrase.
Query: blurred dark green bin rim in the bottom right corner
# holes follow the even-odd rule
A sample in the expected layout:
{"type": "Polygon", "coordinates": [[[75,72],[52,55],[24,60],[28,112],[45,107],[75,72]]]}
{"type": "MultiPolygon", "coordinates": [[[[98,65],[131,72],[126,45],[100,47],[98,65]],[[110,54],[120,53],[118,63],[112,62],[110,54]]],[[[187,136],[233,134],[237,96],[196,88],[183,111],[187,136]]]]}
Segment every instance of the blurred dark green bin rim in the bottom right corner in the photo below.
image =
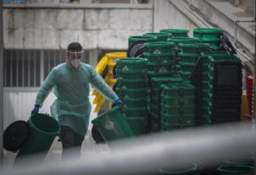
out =
{"type": "Polygon", "coordinates": [[[220,175],[253,175],[254,168],[241,165],[230,165],[218,167],[220,175]]]}

